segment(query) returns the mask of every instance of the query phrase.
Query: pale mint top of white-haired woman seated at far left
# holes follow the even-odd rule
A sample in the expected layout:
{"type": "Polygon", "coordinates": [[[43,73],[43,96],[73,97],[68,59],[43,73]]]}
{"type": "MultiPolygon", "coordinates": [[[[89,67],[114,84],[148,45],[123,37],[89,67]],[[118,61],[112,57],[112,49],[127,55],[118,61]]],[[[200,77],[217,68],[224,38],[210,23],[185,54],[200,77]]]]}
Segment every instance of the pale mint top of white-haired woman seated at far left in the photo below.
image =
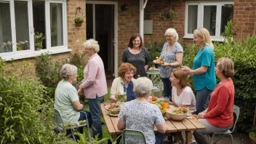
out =
{"type": "Polygon", "coordinates": [[[76,88],[68,81],[60,81],[55,90],[55,108],[60,111],[64,123],[79,121],[80,112],[73,107],[76,100],[79,100],[76,88]]]}

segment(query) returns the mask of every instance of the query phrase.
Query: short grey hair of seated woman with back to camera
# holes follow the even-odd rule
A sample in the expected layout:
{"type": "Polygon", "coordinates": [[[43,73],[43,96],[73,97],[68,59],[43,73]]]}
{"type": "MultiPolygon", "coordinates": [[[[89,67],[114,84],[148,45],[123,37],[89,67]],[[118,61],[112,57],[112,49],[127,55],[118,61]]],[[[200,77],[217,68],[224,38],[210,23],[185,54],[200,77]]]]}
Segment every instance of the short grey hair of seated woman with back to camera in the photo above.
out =
{"type": "Polygon", "coordinates": [[[135,81],[133,92],[137,97],[145,97],[145,95],[151,93],[153,88],[152,81],[146,77],[140,77],[135,81]]]}

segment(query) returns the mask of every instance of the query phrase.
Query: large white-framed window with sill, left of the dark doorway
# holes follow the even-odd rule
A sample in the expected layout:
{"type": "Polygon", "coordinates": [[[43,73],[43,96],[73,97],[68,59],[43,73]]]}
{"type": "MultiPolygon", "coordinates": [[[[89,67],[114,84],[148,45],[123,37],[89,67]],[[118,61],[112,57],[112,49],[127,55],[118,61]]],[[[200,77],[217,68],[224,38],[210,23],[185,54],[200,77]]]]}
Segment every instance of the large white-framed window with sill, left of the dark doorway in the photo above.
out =
{"type": "Polygon", "coordinates": [[[0,0],[0,57],[25,58],[68,52],[66,0],[0,0]],[[42,50],[34,34],[43,33],[42,50]]]}

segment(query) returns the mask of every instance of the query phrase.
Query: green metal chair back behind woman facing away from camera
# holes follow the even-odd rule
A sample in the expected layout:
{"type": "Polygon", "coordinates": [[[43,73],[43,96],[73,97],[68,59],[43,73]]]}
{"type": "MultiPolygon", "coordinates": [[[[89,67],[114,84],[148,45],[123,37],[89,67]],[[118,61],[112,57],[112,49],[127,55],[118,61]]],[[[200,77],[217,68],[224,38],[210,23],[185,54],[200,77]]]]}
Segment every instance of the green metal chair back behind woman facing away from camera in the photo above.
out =
{"type": "Polygon", "coordinates": [[[132,137],[132,140],[137,138],[146,144],[145,135],[140,130],[124,129],[122,132],[122,143],[125,143],[125,137],[132,137]]]}

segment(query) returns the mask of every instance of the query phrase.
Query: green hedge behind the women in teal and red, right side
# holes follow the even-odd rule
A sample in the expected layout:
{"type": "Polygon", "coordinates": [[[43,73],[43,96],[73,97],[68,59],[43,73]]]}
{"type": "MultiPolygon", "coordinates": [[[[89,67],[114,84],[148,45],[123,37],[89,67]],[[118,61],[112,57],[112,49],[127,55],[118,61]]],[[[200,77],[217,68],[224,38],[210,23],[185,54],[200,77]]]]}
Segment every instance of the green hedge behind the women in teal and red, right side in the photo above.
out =
{"type": "MultiPolygon", "coordinates": [[[[232,41],[226,38],[226,42],[215,43],[215,63],[220,57],[228,57],[235,65],[235,105],[240,108],[237,127],[249,132],[254,118],[256,105],[256,35],[247,39],[232,41]]],[[[193,47],[184,52],[183,65],[193,66],[193,58],[198,48],[193,47]]]]}

